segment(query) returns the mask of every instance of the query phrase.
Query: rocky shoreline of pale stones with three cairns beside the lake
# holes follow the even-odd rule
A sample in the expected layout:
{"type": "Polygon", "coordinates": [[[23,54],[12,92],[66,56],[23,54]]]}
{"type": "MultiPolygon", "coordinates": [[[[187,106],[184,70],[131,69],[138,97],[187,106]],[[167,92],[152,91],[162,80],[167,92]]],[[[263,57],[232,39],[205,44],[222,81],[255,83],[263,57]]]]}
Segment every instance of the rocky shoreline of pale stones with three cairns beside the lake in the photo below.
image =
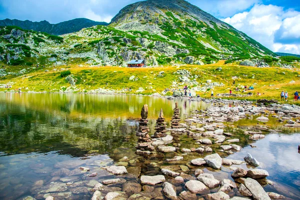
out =
{"type": "Polygon", "coordinates": [[[151,136],[146,119],[148,106],[144,105],[136,132],[137,157],[128,155],[113,165],[105,160],[96,164],[84,160],[78,163],[58,162],[51,181],[47,184],[34,183],[35,187],[31,189],[34,198],[24,199],[72,199],[80,193],[88,194],[83,199],[92,200],[284,198],[281,194],[263,189],[265,185],[272,186],[274,183],[266,179],[269,174],[259,167],[260,160],[249,153],[245,154],[244,160],[224,158],[242,149],[238,145],[240,139],[255,141],[280,130],[257,126],[244,130],[242,135],[225,130],[231,122],[249,117],[262,122],[274,117],[284,122],[285,127],[300,127],[300,107],[276,103],[255,106],[246,100],[233,101],[232,106],[232,100],[209,99],[209,102],[212,106],[192,111],[180,123],[177,123],[179,109],[175,106],[172,119],[176,120],[173,120],[172,127],[166,129],[161,110],[156,132],[151,136]],[[192,147],[181,147],[180,136],[185,134],[193,138],[192,147]],[[148,161],[152,159],[157,161],[148,161]],[[78,175],[84,180],[79,181],[78,175]]]}

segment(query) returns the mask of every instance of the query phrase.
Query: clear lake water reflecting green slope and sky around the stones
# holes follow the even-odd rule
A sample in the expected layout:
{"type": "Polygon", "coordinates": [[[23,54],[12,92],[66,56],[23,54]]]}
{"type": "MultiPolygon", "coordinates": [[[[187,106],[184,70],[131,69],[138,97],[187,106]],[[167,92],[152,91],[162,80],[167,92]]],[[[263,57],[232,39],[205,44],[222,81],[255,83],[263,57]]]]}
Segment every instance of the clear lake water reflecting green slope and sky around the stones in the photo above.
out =
{"type": "MultiPolygon", "coordinates": [[[[90,187],[88,181],[112,177],[99,166],[113,164],[123,156],[136,160],[132,170],[140,167],[141,174],[160,174],[159,167],[169,165],[165,158],[176,153],[158,153],[147,159],[134,154],[137,141],[135,119],[140,117],[142,105],[148,104],[149,126],[153,133],[160,108],[169,126],[174,102],[135,95],[0,93],[0,199],[22,199],[27,195],[43,199],[36,194],[36,181],[42,180],[43,185],[47,185],[51,181],[64,181],[59,178],[66,176],[90,187]],[[99,155],[87,156],[89,150],[98,150],[99,155]],[[92,168],[98,176],[84,176],[77,171],[81,165],[92,168]],[[57,174],[60,168],[69,171],[57,174]]],[[[188,100],[177,102],[182,118],[191,110],[208,106],[188,100]]],[[[239,122],[227,131],[234,132],[234,127],[243,125],[251,126],[251,123],[239,122]]],[[[279,126],[276,124],[276,127],[279,126]]],[[[237,144],[245,148],[229,155],[230,158],[242,159],[246,152],[250,152],[262,163],[261,167],[268,170],[268,179],[278,182],[265,189],[297,199],[295,196],[300,189],[299,134],[270,134],[255,143],[257,148],[248,146],[245,135],[239,132],[234,133],[232,138],[239,138],[237,144]]],[[[186,135],[174,137],[174,142],[180,143],[180,148],[196,146],[194,140],[186,135]]],[[[179,164],[199,156],[204,155],[190,153],[172,167],[178,170],[179,164]]],[[[222,178],[230,178],[230,174],[225,167],[219,171],[222,178]]],[[[215,177],[218,177],[217,174],[215,177]]],[[[72,190],[69,198],[89,199],[90,196],[88,191],[78,193],[72,190]]]]}

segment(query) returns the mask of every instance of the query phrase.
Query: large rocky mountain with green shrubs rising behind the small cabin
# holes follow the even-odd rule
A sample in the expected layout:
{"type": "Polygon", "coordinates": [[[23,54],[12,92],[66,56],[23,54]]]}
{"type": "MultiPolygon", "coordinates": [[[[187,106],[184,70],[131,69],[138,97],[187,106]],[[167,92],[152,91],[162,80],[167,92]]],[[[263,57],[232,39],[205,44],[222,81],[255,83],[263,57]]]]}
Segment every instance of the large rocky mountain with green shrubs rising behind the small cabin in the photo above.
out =
{"type": "MultiPolygon", "coordinates": [[[[76,24],[74,20],[55,27],[68,27],[67,24],[76,24]]],[[[108,25],[94,25],[60,36],[44,31],[0,28],[0,60],[10,65],[45,66],[126,66],[136,58],[145,59],[147,65],[250,59],[251,65],[267,66],[278,61],[272,58],[276,56],[272,51],[245,33],[184,0],[140,1],[122,8],[108,25]]]]}

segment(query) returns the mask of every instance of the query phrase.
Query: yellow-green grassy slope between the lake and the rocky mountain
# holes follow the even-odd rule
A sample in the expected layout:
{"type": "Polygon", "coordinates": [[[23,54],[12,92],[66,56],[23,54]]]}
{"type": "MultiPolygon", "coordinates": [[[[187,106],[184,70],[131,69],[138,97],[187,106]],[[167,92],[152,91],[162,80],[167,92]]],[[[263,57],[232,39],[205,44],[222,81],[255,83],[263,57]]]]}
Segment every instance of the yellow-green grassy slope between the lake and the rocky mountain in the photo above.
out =
{"type": "MultiPolygon", "coordinates": [[[[65,66],[61,66],[65,68],[65,66]]],[[[19,87],[28,87],[28,90],[34,91],[58,91],[62,87],[70,86],[64,79],[60,77],[60,71],[53,71],[53,68],[47,68],[49,72],[44,72],[44,69],[33,71],[31,73],[19,76],[19,77],[7,77],[0,80],[1,83],[7,83],[9,81],[14,82],[11,89],[19,87]]],[[[58,69],[58,68],[57,68],[58,69]]],[[[69,65],[68,68],[71,73],[79,78],[76,84],[78,91],[89,91],[96,88],[117,89],[131,87],[132,91],[128,93],[136,93],[138,87],[145,89],[142,94],[154,93],[152,89],[156,89],[156,92],[161,92],[164,88],[170,88],[172,81],[177,79],[174,71],[178,69],[187,69],[192,75],[197,74],[199,77],[196,79],[199,83],[205,83],[207,79],[211,79],[213,82],[222,82],[225,86],[215,87],[214,93],[226,93],[229,92],[229,88],[233,93],[236,93],[234,86],[232,85],[232,76],[238,76],[241,79],[237,79],[236,85],[254,85],[253,93],[260,92],[262,95],[253,95],[248,99],[258,98],[278,98],[280,91],[288,91],[290,98],[295,90],[300,90],[300,71],[295,69],[283,69],[283,68],[257,68],[249,66],[239,66],[236,64],[226,64],[223,61],[219,61],[215,64],[209,65],[184,65],[180,68],[176,66],[164,66],[154,68],[126,68],[126,67],[78,67],[76,65],[69,65]],[[221,71],[216,71],[215,68],[221,66],[221,71]],[[160,71],[164,71],[164,77],[159,77],[157,74],[160,71]],[[285,74],[283,74],[284,72],[285,74]],[[129,77],[134,75],[139,79],[137,81],[129,80],[129,77]],[[245,76],[247,75],[247,76],[245,76]],[[255,78],[252,76],[255,75],[255,78]],[[147,77],[144,77],[147,76],[147,77]],[[144,77],[144,78],[143,78],[144,77]],[[80,79],[81,78],[81,79],[80,79]],[[85,80],[85,81],[84,81],[85,80]],[[294,83],[289,83],[294,80],[294,83]],[[152,85],[149,85],[152,83],[152,85]],[[270,86],[273,85],[273,86],[270,86]],[[150,88],[152,86],[153,88],[150,88]]],[[[191,85],[192,86],[192,85],[191,85]]],[[[196,85],[193,85],[196,86],[196,85]]],[[[181,88],[183,86],[179,86],[181,88]]],[[[0,91],[6,90],[0,88],[0,91]]],[[[26,91],[22,89],[22,91],[26,91]]],[[[197,92],[202,97],[209,97],[210,91],[197,92]]],[[[237,92],[241,93],[241,92],[237,92]]],[[[170,93],[169,93],[170,94],[170,93]]]]}

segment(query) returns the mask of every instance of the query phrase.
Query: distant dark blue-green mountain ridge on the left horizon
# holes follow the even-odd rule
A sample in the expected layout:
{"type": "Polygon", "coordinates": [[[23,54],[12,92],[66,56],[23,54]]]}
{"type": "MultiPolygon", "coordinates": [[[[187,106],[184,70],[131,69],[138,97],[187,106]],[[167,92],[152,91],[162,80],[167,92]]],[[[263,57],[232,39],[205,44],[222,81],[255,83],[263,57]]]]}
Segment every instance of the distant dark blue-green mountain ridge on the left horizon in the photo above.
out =
{"type": "Polygon", "coordinates": [[[75,18],[68,21],[63,21],[56,24],[51,24],[46,20],[39,22],[32,22],[29,20],[21,21],[17,19],[3,19],[0,20],[0,26],[18,26],[27,30],[35,30],[46,32],[49,34],[60,35],[70,32],[78,31],[82,28],[87,28],[93,25],[107,25],[106,22],[93,21],[87,18],[75,18]]]}

